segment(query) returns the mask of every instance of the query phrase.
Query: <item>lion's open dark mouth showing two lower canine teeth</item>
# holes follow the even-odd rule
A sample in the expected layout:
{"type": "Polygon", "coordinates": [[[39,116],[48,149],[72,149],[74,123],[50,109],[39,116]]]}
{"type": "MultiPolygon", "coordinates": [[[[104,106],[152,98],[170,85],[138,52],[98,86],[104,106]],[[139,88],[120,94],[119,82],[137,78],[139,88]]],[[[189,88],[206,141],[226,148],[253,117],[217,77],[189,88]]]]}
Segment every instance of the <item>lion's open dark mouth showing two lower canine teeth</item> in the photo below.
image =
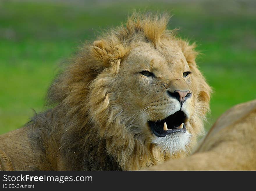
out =
{"type": "Polygon", "coordinates": [[[186,132],[186,115],[181,110],[159,121],[148,121],[152,132],[157,137],[165,137],[175,132],[186,132]]]}

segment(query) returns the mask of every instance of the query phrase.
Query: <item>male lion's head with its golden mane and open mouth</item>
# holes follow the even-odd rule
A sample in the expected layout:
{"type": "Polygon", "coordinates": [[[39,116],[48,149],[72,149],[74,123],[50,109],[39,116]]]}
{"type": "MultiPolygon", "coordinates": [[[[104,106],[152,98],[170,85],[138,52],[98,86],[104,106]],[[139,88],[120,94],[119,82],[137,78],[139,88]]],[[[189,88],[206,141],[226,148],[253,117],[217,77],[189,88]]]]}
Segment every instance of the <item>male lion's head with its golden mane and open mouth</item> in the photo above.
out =
{"type": "Polygon", "coordinates": [[[67,108],[66,142],[71,134],[83,137],[79,148],[94,141],[123,170],[189,154],[203,132],[211,89],[195,45],[167,30],[168,19],[134,14],[86,44],[57,78],[49,99],[67,108]]]}

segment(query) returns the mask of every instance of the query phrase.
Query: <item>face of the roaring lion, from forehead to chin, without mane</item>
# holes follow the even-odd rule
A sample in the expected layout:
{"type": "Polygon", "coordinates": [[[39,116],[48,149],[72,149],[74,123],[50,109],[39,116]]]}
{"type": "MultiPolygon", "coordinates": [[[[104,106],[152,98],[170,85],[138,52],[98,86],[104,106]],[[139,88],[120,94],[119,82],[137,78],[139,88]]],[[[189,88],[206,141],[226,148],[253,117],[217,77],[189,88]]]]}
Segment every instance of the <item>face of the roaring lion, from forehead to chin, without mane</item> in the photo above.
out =
{"type": "Polygon", "coordinates": [[[184,150],[194,111],[193,72],[181,50],[147,43],[132,49],[116,78],[115,91],[129,115],[126,127],[165,151],[184,150]]]}

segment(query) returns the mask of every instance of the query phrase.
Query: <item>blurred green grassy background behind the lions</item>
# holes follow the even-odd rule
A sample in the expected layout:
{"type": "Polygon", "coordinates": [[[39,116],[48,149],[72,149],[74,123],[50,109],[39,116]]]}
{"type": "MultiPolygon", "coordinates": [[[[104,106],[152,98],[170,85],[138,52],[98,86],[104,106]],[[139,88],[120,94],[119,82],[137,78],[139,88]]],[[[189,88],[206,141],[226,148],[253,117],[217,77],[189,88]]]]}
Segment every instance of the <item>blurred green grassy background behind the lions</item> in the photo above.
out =
{"type": "Polygon", "coordinates": [[[0,134],[43,111],[58,65],[133,10],[168,11],[169,29],[197,42],[214,89],[208,130],[232,105],[256,99],[255,1],[1,1],[0,134]]]}

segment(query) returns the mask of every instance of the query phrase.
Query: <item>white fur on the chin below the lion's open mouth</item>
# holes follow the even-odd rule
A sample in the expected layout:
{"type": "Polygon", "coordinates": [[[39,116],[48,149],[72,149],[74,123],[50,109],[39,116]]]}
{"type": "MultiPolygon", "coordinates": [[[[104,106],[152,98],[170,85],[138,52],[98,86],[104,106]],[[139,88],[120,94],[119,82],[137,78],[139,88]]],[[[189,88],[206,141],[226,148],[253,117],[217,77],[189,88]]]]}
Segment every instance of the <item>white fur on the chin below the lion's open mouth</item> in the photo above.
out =
{"type": "Polygon", "coordinates": [[[171,155],[180,152],[186,152],[186,145],[190,142],[191,134],[188,132],[176,132],[174,134],[166,135],[165,137],[157,137],[152,141],[163,152],[170,152],[171,155]]]}

